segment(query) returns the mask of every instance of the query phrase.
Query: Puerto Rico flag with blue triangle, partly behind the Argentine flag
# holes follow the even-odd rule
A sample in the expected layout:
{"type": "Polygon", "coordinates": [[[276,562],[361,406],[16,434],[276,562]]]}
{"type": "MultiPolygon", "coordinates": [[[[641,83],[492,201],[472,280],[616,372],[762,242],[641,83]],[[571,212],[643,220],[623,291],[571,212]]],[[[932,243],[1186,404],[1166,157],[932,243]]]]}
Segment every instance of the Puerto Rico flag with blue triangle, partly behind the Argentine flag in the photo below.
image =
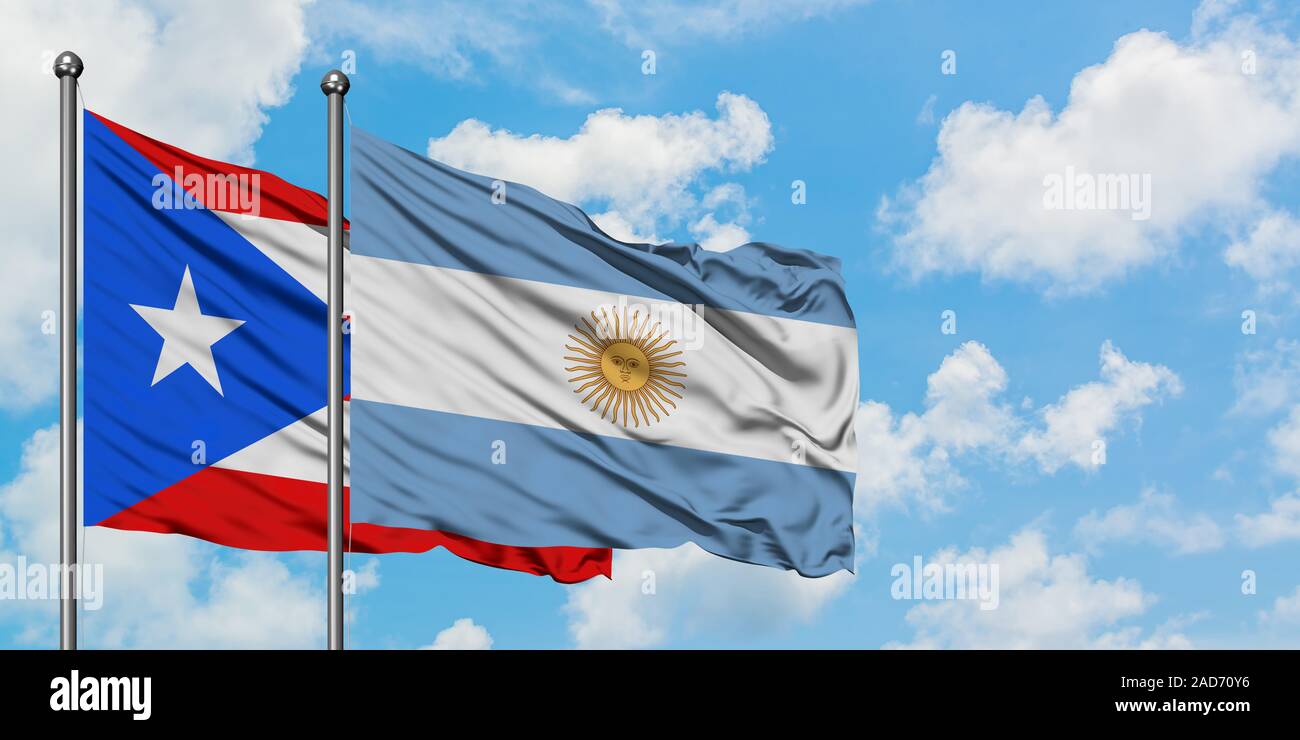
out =
{"type": "MultiPolygon", "coordinates": [[[[83,140],[86,525],[324,550],[326,200],[90,111],[83,140]]],[[[347,514],[344,538],[562,583],[610,575],[601,548],[347,514]]]]}

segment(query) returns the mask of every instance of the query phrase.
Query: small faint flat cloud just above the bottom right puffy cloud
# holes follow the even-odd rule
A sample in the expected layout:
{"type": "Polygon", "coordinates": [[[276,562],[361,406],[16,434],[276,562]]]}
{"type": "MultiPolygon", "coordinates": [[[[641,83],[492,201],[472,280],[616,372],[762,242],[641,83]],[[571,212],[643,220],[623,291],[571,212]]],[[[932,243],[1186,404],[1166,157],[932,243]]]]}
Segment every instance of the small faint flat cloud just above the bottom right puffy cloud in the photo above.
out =
{"type": "Polygon", "coordinates": [[[1089,550],[1108,542],[1148,542],[1175,554],[1206,553],[1225,544],[1222,528],[1205,514],[1183,514],[1174,494],[1144,489],[1136,503],[1096,511],[1080,519],[1075,537],[1089,550]]]}

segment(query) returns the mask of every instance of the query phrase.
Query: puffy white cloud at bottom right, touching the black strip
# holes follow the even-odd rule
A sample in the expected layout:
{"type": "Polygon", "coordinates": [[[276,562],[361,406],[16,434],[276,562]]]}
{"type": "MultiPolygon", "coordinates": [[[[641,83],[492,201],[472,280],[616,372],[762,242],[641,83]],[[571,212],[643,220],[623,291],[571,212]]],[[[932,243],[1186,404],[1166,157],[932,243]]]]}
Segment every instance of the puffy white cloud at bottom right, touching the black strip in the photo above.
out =
{"type": "Polygon", "coordinates": [[[1123,620],[1139,616],[1154,602],[1131,579],[1104,580],[1088,572],[1083,554],[1053,555],[1046,536],[1024,529],[985,550],[942,550],[928,563],[996,563],[997,609],[984,610],[974,600],[922,602],[907,610],[915,631],[910,642],[892,648],[958,649],[1076,649],[1187,646],[1180,633],[1164,631],[1143,639],[1123,620]]]}

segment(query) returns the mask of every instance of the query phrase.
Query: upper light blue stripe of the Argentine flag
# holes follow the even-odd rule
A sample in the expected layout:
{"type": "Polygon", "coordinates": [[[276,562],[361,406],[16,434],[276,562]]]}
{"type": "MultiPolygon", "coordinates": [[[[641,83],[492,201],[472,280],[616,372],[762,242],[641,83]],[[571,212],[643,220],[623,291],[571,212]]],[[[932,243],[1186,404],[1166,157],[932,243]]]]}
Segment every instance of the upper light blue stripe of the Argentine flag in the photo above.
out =
{"type": "Polygon", "coordinates": [[[853,326],[840,260],[750,243],[727,252],[697,244],[629,244],[586,213],[352,129],[355,255],[484,272],[621,295],[703,304],[853,326]]]}

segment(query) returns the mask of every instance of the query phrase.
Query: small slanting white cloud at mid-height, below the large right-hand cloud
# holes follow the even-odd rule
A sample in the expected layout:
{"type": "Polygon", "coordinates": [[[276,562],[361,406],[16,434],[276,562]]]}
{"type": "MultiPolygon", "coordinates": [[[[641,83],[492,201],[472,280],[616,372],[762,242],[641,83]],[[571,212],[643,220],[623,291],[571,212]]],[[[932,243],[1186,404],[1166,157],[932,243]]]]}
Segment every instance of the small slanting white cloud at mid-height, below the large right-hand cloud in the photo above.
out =
{"type": "Polygon", "coordinates": [[[1108,339],[1101,346],[1101,380],[1080,385],[1045,407],[1045,427],[1026,434],[1018,450],[1049,473],[1066,463],[1097,467],[1095,442],[1105,443],[1126,416],[1182,391],[1173,371],[1131,362],[1108,339]]]}

